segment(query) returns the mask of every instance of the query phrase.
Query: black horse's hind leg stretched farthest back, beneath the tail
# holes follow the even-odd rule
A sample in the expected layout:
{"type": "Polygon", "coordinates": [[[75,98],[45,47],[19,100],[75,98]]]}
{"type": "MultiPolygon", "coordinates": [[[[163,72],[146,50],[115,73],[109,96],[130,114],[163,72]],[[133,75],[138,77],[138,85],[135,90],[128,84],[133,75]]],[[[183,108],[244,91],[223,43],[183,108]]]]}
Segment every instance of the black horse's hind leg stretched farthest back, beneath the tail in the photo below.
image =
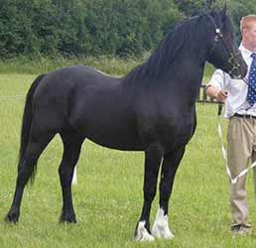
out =
{"type": "Polygon", "coordinates": [[[47,147],[49,142],[53,139],[53,137],[54,134],[35,135],[32,131],[26,152],[19,161],[18,177],[16,181],[13,203],[11,209],[5,217],[6,222],[18,222],[24,187],[33,175],[40,155],[47,147]]]}

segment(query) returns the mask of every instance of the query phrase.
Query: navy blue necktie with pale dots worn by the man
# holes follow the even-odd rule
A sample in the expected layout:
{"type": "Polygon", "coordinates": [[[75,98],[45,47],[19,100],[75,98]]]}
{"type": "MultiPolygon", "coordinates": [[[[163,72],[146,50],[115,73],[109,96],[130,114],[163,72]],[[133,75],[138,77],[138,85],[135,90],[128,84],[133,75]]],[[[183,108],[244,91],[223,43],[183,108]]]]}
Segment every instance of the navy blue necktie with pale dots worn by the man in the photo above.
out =
{"type": "Polygon", "coordinates": [[[256,54],[251,55],[252,63],[249,71],[247,101],[252,106],[256,102],[256,54]]]}

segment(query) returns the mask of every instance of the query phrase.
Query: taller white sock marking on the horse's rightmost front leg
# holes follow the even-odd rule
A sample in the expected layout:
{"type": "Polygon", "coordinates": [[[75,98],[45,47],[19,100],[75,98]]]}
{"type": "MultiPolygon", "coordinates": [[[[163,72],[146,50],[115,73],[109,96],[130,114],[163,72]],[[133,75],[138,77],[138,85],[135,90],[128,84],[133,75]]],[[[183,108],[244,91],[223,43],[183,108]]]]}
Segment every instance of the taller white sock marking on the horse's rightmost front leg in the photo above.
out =
{"type": "Polygon", "coordinates": [[[158,209],[152,233],[157,238],[172,239],[175,237],[169,228],[168,215],[164,215],[164,210],[162,208],[158,209]]]}

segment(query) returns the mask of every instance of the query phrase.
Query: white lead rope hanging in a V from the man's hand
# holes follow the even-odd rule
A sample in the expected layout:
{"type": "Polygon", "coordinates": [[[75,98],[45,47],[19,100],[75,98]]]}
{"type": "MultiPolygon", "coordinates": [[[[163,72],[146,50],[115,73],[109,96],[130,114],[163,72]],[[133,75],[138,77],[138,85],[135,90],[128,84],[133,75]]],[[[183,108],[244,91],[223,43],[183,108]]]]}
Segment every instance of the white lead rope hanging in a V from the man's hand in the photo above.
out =
{"type": "MultiPolygon", "coordinates": [[[[223,79],[225,80],[225,74],[223,72],[223,79]]],[[[221,112],[222,112],[222,107],[223,104],[222,103],[218,103],[218,122],[217,122],[217,132],[218,132],[218,137],[219,137],[219,141],[220,141],[220,146],[221,146],[221,152],[222,152],[222,157],[225,161],[225,165],[226,165],[226,174],[228,175],[230,182],[232,185],[235,185],[237,183],[237,180],[241,177],[243,177],[244,175],[246,175],[252,168],[256,167],[256,161],[247,169],[244,169],[241,173],[239,173],[234,179],[232,179],[231,176],[231,172],[229,170],[228,167],[228,163],[227,163],[227,155],[226,155],[226,149],[224,147],[224,143],[223,143],[223,136],[222,136],[222,128],[221,128],[221,112]]]]}

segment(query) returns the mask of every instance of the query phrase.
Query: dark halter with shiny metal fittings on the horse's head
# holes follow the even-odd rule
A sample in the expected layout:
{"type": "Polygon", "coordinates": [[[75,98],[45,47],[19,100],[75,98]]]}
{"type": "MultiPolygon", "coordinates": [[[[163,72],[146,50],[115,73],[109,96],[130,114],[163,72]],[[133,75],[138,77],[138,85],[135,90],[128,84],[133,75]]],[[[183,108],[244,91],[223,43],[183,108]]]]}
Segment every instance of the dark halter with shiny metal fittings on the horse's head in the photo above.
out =
{"type": "Polygon", "coordinates": [[[230,49],[226,45],[224,35],[221,32],[221,30],[219,28],[217,28],[217,25],[216,25],[214,19],[209,14],[207,14],[206,16],[209,18],[210,22],[212,23],[212,25],[214,27],[214,32],[215,32],[214,44],[213,44],[213,46],[212,46],[212,48],[209,52],[209,55],[211,55],[213,53],[217,43],[221,40],[224,48],[227,51],[227,54],[229,55],[229,58],[227,59],[227,62],[232,66],[232,68],[228,71],[228,73],[230,74],[230,73],[232,73],[233,71],[235,71],[236,69],[238,69],[240,67],[240,64],[238,62],[236,62],[236,58],[237,58],[238,55],[240,55],[240,52],[234,54],[230,51],[230,49]]]}

